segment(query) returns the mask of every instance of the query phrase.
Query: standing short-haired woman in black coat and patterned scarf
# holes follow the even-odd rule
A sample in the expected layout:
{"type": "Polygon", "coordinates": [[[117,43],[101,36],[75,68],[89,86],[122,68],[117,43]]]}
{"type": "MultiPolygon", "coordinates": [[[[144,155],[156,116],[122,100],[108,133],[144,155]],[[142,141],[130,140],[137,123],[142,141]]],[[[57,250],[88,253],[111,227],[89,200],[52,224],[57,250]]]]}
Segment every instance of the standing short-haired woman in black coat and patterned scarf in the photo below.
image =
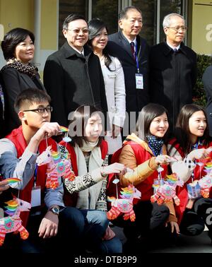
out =
{"type": "Polygon", "coordinates": [[[37,68],[30,64],[34,57],[35,36],[23,28],[15,28],[6,33],[1,49],[7,64],[1,69],[2,88],[5,97],[5,133],[17,128],[20,121],[14,109],[16,96],[25,89],[45,90],[37,68]]]}

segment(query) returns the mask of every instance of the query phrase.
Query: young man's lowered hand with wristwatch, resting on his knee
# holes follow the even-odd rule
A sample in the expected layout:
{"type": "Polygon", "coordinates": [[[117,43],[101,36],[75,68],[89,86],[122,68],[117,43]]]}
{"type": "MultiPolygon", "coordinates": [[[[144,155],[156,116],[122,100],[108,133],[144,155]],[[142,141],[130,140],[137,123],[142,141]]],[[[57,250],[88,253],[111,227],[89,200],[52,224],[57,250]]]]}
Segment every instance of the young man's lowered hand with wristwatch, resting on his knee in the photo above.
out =
{"type": "Polygon", "coordinates": [[[40,223],[38,230],[39,237],[48,238],[57,235],[59,218],[52,211],[47,211],[45,217],[40,223]]]}

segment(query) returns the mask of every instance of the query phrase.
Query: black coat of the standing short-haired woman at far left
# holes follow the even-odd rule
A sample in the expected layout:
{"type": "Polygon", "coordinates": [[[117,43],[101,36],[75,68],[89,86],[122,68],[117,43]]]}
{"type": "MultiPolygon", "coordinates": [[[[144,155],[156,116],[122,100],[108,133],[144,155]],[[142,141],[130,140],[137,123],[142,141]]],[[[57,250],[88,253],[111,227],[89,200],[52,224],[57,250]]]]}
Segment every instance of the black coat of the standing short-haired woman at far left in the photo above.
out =
{"type": "Polygon", "coordinates": [[[10,133],[13,129],[20,126],[20,120],[14,109],[14,102],[17,95],[25,89],[37,88],[45,90],[42,82],[40,81],[39,73],[34,79],[30,78],[28,74],[21,73],[17,69],[8,68],[1,71],[1,84],[4,91],[5,98],[5,132],[10,133]]]}

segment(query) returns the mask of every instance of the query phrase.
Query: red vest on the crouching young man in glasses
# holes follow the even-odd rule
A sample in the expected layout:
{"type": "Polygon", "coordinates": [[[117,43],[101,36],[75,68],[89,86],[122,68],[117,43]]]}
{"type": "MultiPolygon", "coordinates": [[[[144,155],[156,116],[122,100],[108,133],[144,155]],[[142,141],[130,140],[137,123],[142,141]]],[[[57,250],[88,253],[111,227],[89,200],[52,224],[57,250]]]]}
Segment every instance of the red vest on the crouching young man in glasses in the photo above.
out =
{"type": "MultiPolygon", "coordinates": [[[[16,147],[17,151],[17,158],[20,158],[20,156],[25,151],[25,148],[27,147],[27,143],[25,141],[25,138],[23,136],[22,126],[20,126],[18,129],[14,129],[11,131],[8,136],[6,136],[10,141],[13,142],[14,146],[16,147]]],[[[57,151],[57,143],[52,139],[48,139],[48,146],[52,146],[52,150],[57,151]]],[[[39,153],[42,153],[44,150],[46,150],[47,145],[46,141],[43,140],[40,142],[39,146],[39,153]]],[[[47,172],[47,165],[42,165],[37,168],[37,179],[36,179],[36,185],[41,187],[41,201],[42,204],[44,201],[44,193],[45,193],[45,184],[46,184],[46,172],[47,172]]],[[[30,182],[25,186],[23,190],[20,190],[19,192],[19,198],[23,199],[23,201],[28,201],[31,203],[31,191],[34,186],[35,177],[30,179],[30,182]]],[[[23,211],[20,213],[20,218],[23,221],[23,226],[26,226],[28,223],[28,217],[30,212],[29,211],[23,211]]]]}

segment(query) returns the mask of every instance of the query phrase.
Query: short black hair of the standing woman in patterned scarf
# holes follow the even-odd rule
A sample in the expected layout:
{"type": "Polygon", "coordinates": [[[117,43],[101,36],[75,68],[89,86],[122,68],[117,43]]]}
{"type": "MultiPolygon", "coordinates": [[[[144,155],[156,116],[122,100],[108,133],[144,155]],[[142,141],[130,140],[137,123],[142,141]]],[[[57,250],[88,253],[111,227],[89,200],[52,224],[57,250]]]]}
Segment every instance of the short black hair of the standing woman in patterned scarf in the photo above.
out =
{"type": "Polygon", "coordinates": [[[16,50],[16,45],[23,42],[26,37],[30,36],[33,44],[35,42],[35,35],[30,30],[23,28],[14,28],[4,35],[4,40],[1,42],[1,49],[4,54],[4,59],[13,59],[16,50]]]}

